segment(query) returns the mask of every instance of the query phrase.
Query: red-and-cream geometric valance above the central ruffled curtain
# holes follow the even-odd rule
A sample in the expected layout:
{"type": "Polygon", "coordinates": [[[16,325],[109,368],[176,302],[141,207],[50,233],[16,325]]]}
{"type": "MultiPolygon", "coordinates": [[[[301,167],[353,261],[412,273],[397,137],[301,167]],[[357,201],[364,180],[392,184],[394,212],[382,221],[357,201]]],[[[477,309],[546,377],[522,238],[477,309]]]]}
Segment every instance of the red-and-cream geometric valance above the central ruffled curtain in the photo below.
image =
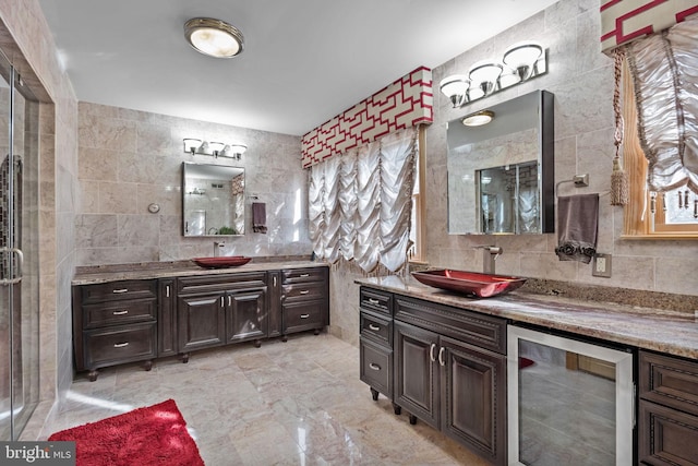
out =
{"type": "Polygon", "coordinates": [[[431,123],[433,106],[432,70],[420,67],[303,135],[303,168],[397,130],[431,123]]]}

